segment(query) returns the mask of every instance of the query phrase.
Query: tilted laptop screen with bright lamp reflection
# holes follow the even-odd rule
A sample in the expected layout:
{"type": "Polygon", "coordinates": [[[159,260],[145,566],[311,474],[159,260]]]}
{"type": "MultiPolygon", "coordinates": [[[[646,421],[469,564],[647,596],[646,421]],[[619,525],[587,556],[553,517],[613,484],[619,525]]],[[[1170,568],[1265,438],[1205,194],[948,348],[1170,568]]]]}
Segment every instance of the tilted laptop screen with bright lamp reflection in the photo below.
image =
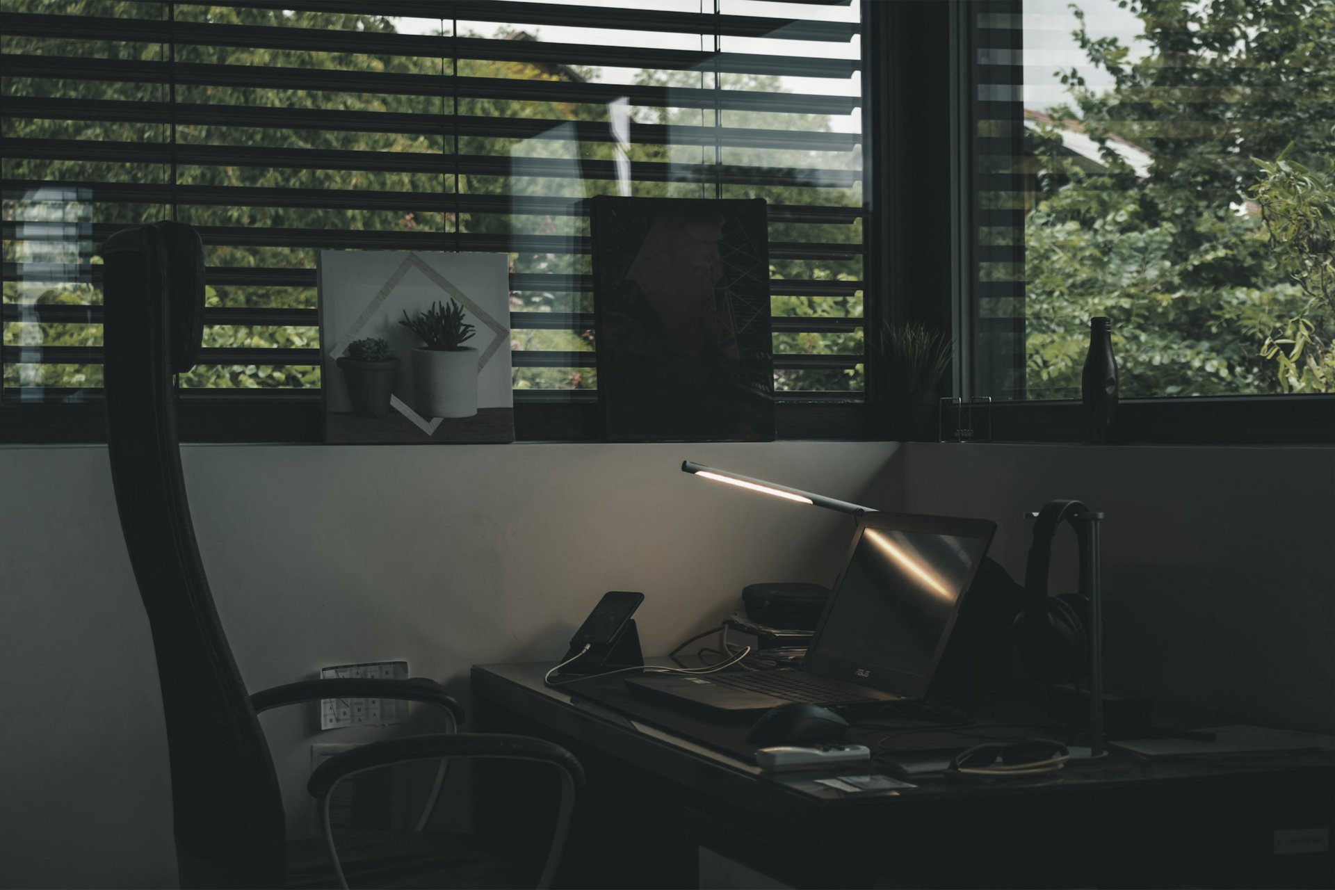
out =
{"type": "Polygon", "coordinates": [[[921,697],[995,524],[869,514],[804,667],[921,697]]]}

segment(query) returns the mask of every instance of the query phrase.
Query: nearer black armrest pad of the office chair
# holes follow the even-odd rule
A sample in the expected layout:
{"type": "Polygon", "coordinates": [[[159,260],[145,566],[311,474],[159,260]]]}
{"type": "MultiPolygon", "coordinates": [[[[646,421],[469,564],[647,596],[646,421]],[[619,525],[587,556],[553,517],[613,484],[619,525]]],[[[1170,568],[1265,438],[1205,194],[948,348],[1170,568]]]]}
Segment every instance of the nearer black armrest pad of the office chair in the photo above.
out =
{"type": "Polygon", "coordinates": [[[339,781],[391,763],[431,761],[437,758],[471,757],[510,761],[537,761],[550,763],[567,774],[575,787],[585,783],[583,767],[575,755],[553,742],[527,735],[501,733],[458,733],[453,735],[410,735],[400,739],[368,742],[335,754],[311,773],[306,789],[316,801],[323,801],[339,781]]]}

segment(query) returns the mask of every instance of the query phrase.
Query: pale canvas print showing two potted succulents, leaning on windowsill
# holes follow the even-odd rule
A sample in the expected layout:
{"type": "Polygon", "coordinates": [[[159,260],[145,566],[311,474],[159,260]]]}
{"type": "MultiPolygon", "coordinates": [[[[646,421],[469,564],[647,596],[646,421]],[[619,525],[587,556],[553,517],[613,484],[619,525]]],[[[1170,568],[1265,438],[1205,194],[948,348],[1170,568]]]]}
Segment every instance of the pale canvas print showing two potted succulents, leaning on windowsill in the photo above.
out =
{"type": "Polygon", "coordinates": [[[319,299],[326,442],[514,442],[505,254],[320,251],[319,299]]]}

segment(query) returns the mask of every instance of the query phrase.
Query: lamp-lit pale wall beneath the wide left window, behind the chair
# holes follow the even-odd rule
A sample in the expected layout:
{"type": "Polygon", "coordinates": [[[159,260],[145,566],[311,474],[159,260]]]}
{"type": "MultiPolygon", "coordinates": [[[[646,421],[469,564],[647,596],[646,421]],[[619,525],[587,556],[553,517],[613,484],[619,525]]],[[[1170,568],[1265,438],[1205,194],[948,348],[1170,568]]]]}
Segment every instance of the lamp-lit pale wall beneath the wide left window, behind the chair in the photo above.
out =
{"type": "MultiPolygon", "coordinates": [[[[195,530],[251,690],[406,658],[559,656],[603,591],[642,590],[649,652],[758,580],[829,583],[848,519],[704,482],[684,458],[850,500],[896,496],[890,443],[187,446],[195,530]]],[[[103,448],[0,450],[0,838],[8,886],[168,886],[166,742],[103,448]],[[48,855],[49,854],[49,855],[48,855]]],[[[311,709],[263,718],[294,830],[311,709]]],[[[430,721],[427,721],[430,723],[430,721]]]]}

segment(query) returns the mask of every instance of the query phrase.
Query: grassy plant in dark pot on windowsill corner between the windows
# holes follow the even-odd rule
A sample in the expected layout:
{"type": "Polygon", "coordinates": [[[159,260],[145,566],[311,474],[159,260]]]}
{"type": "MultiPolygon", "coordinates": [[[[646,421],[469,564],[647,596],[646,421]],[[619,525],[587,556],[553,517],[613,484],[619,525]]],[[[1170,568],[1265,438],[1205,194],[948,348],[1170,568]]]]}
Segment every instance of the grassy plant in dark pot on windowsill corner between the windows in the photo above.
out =
{"type": "Polygon", "coordinates": [[[881,326],[882,379],[888,422],[905,442],[940,438],[941,378],[951,370],[951,340],[922,322],[881,326]]]}

